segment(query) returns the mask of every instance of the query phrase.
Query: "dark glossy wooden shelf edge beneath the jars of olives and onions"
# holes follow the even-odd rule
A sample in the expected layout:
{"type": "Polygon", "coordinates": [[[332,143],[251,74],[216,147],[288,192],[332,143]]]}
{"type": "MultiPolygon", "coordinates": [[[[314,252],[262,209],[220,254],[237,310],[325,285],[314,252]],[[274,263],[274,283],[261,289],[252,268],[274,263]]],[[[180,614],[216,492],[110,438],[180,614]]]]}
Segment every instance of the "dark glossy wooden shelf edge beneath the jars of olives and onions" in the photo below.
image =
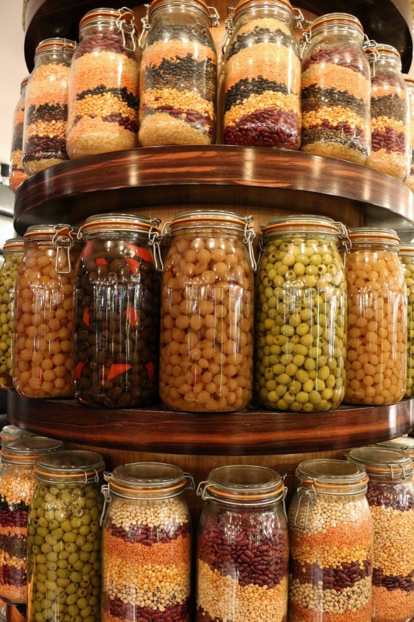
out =
{"type": "Polygon", "coordinates": [[[73,399],[34,399],[8,392],[8,419],[66,442],[185,455],[270,455],[335,451],[411,431],[413,399],[393,406],[341,406],[331,413],[181,413],[101,409],[73,399]]]}

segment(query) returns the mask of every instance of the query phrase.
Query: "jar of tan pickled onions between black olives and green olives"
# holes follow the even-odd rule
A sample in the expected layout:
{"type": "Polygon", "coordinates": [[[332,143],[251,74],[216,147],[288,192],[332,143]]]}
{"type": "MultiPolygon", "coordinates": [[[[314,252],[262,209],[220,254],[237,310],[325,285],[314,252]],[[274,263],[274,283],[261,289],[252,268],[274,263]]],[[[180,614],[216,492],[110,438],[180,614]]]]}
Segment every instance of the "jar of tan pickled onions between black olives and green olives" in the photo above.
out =
{"type": "Polygon", "coordinates": [[[239,411],[253,390],[254,268],[250,223],[195,210],[166,223],[159,395],[181,411],[239,411]]]}

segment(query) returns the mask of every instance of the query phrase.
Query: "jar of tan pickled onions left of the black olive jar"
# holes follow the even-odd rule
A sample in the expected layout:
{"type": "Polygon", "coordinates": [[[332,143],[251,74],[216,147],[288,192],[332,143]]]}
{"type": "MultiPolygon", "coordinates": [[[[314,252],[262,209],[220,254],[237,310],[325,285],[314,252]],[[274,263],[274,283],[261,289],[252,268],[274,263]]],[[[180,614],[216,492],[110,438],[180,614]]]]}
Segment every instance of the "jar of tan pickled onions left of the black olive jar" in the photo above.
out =
{"type": "Polygon", "coordinates": [[[72,395],[76,234],[70,225],[33,225],[23,236],[14,300],[13,384],[26,397],[72,395]]]}

